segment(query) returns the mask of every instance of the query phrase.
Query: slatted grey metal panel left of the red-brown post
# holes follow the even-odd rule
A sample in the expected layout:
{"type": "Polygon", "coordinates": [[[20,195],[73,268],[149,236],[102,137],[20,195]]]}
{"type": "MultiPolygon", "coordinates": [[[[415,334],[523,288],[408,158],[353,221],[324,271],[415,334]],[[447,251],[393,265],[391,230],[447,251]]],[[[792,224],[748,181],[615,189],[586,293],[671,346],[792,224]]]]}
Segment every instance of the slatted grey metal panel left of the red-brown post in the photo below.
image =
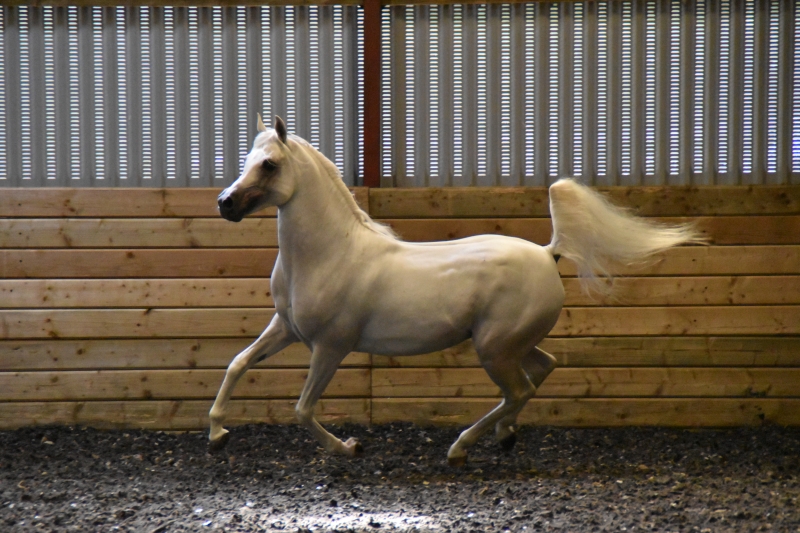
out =
{"type": "Polygon", "coordinates": [[[222,186],[238,175],[256,112],[280,114],[357,182],[355,6],[0,16],[0,185],[222,186]]]}

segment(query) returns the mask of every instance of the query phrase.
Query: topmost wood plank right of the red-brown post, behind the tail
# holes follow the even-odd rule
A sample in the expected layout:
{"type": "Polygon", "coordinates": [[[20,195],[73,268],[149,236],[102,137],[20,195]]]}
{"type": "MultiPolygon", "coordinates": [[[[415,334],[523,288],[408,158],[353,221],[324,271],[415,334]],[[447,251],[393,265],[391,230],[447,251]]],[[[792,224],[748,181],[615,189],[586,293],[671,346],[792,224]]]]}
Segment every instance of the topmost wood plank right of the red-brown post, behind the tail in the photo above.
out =
{"type": "MultiPolygon", "coordinates": [[[[640,216],[778,215],[800,213],[797,186],[599,187],[640,216]]],[[[544,187],[370,189],[378,218],[547,217],[544,187]]]]}

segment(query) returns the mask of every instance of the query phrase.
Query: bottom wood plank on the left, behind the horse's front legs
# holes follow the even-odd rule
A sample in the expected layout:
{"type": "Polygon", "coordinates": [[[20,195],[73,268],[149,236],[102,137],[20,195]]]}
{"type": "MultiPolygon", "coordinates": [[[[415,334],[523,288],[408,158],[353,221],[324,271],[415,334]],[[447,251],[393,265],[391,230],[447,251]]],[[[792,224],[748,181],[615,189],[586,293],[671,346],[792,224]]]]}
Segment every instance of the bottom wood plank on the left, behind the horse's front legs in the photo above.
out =
{"type": "MultiPolygon", "coordinates": [[[[7,402],[0,408],[0,429],[67,424],[97,428],[207,430],[212,400],[98,402],[7,402]]],[[[232,400],[225,425],[296,423],[297,400],[232,400]]],[[[370,401],[323,398],[314,412],[324,424],[369,424],[370,401]]]]}

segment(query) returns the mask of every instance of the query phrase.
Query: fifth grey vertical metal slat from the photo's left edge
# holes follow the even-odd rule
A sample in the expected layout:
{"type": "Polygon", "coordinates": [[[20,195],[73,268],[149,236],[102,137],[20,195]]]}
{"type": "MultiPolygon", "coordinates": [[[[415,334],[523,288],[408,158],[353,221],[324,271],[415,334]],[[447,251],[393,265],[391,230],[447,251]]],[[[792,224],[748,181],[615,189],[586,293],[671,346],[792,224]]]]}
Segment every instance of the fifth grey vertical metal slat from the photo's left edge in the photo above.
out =
{"type": "MultiPolygon", "coordinates": [[[[103,8],[103,186],[117,187],[119,161],[119,50],[117,8],[103,8]]],[[[188,130],[185,130],[188,131],[188,130]]]]}

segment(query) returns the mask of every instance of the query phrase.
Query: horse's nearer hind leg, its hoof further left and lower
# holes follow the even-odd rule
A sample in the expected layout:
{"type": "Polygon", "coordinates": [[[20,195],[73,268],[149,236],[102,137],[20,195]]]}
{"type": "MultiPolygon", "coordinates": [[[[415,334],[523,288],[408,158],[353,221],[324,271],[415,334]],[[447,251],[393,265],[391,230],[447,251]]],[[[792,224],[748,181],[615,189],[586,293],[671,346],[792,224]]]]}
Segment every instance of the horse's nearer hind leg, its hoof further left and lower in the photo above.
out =
{"type": "MultiPolygon", "coordinates": [[[[481,357],[486,373],[503,393],[503,401],[489,414],[465,430],[447,452],[447,462],[461,466],[467,460],[467,448],[478,441],[481,435],[501,420],[516,417],[525,402],[536,393],[536,387],[523,370],[518,357],[481,357]]],[[[514,418],[511,418],[513,421],[514,418]]]]}

